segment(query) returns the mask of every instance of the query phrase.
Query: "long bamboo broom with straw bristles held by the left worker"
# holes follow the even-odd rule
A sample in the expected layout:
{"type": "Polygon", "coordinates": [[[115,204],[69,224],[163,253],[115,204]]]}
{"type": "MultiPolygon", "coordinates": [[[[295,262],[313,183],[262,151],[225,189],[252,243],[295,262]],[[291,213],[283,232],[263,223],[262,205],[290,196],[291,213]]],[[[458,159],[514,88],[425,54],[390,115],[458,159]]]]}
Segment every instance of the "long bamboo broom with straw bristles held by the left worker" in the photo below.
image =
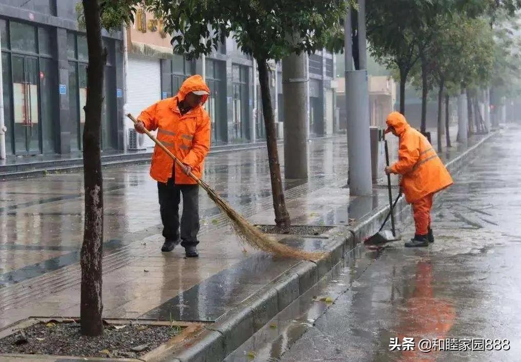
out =
{"type": "MultiPolygon", "coordinates": [[[[132,122],[137,123],[138,120],[136,120],[131,114],[127,115],[128,118],[132,120],[132,122]]],[[[151,138],[152,141],[154,141],[159,147],[165,151],[168,156],[170,156],[176,164],[178,164],[181,167],[185,167],[181,161],[173,155],[168,148],[166,148],[161,142],[159,142],[154,135],[150,133],[147,129],[145,129],[145,133],[148,135],[148,137],[151,138]]],[[[301,259],[301,260],[316,260],[320,259],[325,256],[325,253],[321,252],[306,252],[303,250],[295,249],[292,247],[289,247],[287,245],[283,245],[276,241],[273,238],[270,238],[265,233],[261,232],[258,228],[253,226],[250,222],[248,222],[241,214],[239,214],[237,211],[235,211],[228,202],[223,199],[222,197],[217,194],[210,186],[204,182],[203,180],[197,178],[192,172],[188,174],[199,186],[201,186],[208,196],[217,204],[217,206],[224,212],[228,218],[231,221],[231,225],[237,235],[239,236],[239,239],[250,245],[251,247],[255,249],[259,249],[262,251],[265,251],[270,254],[274,254],[277,256],[282,257],[288,257],[293,259],[301,259]]]]}

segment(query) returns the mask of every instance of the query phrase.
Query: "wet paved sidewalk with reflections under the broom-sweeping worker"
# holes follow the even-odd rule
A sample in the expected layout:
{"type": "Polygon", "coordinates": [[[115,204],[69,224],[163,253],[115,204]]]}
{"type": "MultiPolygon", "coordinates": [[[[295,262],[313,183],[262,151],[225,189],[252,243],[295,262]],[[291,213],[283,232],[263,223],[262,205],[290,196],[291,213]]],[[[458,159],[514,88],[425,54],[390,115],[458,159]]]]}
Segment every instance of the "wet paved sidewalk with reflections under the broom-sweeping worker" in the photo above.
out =
{"type": "MultiPolygon", "coordinates": [[[[346,226],[387,204],[384,189],[350,197],[344,188],[345,136],[309,143],[309,155],[309,180],[284,184],[294,224],[346,226]]],[[[215,321],[296,264],[240,245],[203,193],[201,257],[185,259],[182,248],[160,253],[157,185],[148,166],[110,168],[103,177],[106,317],[215,321]]],[[[28,316],[79,315],[82,178],[51,174],[0,185],[0,327],[28,316]]],[[[205,180],[251,222],[273,222],[265,149],[210,155],[205,180]]],[[[328,242],[308,238],[301,246],[322,249],[328,242]]]]}

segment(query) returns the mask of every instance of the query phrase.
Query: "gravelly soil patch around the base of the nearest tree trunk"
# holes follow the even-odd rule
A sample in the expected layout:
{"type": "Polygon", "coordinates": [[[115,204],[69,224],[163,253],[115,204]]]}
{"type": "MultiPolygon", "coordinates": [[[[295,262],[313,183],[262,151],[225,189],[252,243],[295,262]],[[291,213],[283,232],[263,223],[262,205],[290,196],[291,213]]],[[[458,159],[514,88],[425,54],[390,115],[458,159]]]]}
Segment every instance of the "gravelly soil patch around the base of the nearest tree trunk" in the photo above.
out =
{"type": "Polygon", "coordinates": [[[0,353],[138,358],[181,332],[178,326],[106,324],[98,337],[81,335],[80,323],[38,322],[0,340],[0,353]]]}

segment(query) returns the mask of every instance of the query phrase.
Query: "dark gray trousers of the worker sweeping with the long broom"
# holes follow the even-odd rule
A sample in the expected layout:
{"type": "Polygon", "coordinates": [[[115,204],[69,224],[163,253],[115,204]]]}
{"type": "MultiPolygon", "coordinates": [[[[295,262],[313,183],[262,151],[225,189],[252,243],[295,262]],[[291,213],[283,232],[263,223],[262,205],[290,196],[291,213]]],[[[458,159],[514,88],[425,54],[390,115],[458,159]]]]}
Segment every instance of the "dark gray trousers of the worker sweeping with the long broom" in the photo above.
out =
{"type": "Polygon", "coordinates": [[[199,185],[176,185],[173,177],[167,183],[158,182],[159,210],[165,240],[181,239],[184,247],[197,245],[199,233],[199,185]],[[179,223],[179,203],[183,196],[183,213],[179,223]],[[179,233],[181,227],[181,233],[179,233]]]}

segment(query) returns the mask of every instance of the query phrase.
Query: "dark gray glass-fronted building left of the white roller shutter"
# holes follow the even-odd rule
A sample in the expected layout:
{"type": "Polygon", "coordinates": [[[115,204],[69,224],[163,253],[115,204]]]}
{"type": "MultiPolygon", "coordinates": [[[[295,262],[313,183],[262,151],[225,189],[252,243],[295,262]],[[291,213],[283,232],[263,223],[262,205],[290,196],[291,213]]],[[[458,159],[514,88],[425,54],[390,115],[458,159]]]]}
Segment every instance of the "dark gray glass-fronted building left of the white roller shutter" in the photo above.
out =
{"type": "MultiPolygon", "coordinates": [[[[82,149],[88,54],[76,2],[0,1],[3,115],[7,155],[70,154],[82,149]]],[[[123,148],[121,32],[107,48],[102,148],[123,148]]]]}

